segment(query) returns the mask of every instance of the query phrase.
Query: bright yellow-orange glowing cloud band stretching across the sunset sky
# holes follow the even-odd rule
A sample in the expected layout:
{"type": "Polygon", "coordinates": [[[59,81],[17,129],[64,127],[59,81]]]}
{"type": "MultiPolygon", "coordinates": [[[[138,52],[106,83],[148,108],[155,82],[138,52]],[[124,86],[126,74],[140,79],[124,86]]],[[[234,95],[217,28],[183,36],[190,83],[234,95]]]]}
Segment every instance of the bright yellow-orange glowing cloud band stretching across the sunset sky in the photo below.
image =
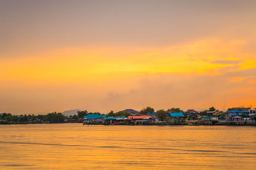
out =
{"type": "MultiPolygon", "coordinates": [[[[256,66],[252,55],[245,57],[240,52],[241,41],[223,42],[220,39],[196,41],[188,45],[149,49],[150,52],[137,52],[127,49],[116,51],[108,48],[95,50],[83,48],[64,49],[36,57],[5,59],[0,63],[1,80],[36,79],[49,81],[90,81],[108,80],[112,73],[205,73],[227,66],[248,69],[256,66]],[[107,49],[107,50],[106,50],[107,49]],[[122,53],[122,50],[124,52],[122,53]],[[136,55],[134,55],[136,53],[136,55]],[[218,54],[221,53],[221,57],[218,54]],[[127,55],[127,57],[122,57],[127,55]],[[241,60],[240,56],[244,56],[241,60]],[[119,57],[120,56],[120,57],[119,57]],[[230,57],[232,56],[232,57],[230,57]],[[238,63],[232,61],[241,60],[238,63]],[[214,63],[220,61],[220,63],[214,63]],[[225,61],[221,63],[221,61],[225,61]],[[230,62],[230,63],[228,63],[230,62]],[[95,77],[97,76],[97,77],[95,77]]],[[[138,50],[139,51],[139,50],[138,50]]]]}

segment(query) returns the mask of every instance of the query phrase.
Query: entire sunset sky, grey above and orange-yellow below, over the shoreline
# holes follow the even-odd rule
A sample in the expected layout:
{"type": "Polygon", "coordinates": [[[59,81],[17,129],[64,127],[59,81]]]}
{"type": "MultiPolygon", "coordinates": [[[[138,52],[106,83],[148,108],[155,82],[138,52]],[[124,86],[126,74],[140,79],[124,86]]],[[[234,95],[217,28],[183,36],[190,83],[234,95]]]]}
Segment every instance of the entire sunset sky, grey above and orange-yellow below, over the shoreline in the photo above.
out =
{"type": "Polygon", "coordinates": [[[0,1],[0,113],[256,108],[256,1],[0,1]]]}

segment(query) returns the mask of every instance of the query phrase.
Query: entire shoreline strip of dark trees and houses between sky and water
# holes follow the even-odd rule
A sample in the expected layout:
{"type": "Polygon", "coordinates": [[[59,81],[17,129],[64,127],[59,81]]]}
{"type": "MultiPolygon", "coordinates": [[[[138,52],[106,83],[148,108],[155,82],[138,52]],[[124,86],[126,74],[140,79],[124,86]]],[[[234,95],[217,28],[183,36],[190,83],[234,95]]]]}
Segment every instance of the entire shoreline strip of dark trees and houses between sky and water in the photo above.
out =
{"type": "Polygon", "coordinates": [[[256,125],[256,108],[229,108],[219,111],[214,107],[205,111],[180,108],[141,111],[127,109],[108,114],[77,111],[75,115],[48,113],[47,115],[12,115],[0,113],[0,124],[83,123],[83,125],[256,125]]]}

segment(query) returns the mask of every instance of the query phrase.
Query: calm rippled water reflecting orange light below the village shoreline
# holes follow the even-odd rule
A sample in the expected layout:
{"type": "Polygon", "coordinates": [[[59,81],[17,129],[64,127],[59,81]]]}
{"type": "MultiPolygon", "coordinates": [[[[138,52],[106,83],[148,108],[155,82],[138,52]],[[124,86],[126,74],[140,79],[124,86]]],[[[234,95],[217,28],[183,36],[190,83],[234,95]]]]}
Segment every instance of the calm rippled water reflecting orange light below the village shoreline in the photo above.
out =
{"type": "Polygon", "coordinates": [[[0,125],[0,169],[256,169],[256,127],[0,125]]]}

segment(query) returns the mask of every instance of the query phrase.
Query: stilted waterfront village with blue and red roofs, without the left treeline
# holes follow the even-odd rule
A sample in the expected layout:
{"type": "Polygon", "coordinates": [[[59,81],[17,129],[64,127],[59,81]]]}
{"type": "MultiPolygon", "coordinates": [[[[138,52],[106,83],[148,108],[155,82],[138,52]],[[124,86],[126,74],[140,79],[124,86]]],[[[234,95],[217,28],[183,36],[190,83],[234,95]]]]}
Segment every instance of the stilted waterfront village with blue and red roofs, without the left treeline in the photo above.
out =
{"type": "MultiPolygon", "coordinates": [[[[150,110],[146,108],[145,110],[150,110]]],[[[122,112],[131,115],[110,116],[90,114],[83,117],[83,124],[104,124],[104,125],[256,125],[256,109],[251,108],[230,108],[227,111],[218,111],[209,108],[199,113],[195,110],[180,111],[173,108],[168,111],[148,111],[141,114],[135,110],[124,110],[122,112]]],[[[113,114],[115,115],[115,114],[113,114]]]]}

